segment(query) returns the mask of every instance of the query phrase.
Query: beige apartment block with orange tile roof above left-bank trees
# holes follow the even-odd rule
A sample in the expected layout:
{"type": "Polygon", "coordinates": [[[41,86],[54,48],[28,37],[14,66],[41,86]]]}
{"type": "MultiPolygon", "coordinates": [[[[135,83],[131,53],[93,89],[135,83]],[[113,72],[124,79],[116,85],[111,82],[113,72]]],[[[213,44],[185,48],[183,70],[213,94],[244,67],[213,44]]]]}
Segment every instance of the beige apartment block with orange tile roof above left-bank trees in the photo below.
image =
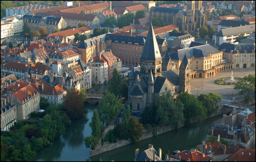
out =
{"type": "Polygon", "coordinates": [[[13,92],[10,100],[16,104],[18,120],[28,119],[31,112],[37,112],[40,108],[39,92],[31,85],[13,92]]]}

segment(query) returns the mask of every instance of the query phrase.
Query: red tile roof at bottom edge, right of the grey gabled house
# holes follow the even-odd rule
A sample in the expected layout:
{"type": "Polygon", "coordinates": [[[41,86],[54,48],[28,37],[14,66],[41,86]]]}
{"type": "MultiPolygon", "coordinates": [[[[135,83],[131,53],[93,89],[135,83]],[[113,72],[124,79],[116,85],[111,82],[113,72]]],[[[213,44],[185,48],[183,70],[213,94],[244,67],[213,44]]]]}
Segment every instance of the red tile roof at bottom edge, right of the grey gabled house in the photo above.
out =
{"type": "Polygon", "coordinates": [[[175,158],[176,156],[181,156],[181,160],[185,160],[185,161],[188,158],[190,159],[190,161],[206,161],[211,159],[210,156],[205,155],[196,149],[194,151],[184,150],[182,152],[179,152],[178,154],[173,155],[172,157],[175,158]]]}

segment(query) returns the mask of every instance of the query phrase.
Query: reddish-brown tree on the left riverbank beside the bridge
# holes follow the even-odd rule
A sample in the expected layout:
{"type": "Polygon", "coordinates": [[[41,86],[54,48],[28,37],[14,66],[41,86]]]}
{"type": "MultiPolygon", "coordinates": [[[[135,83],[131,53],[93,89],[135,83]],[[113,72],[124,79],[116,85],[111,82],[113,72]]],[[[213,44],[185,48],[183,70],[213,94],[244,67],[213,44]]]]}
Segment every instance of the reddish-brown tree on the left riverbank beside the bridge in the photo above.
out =
{"type": "Polygon", "coordinates": [[[64,96],[64,108],[67,110],[70,118],[83,117],[84,96],[76,88],[71,88],[64,96]]]}

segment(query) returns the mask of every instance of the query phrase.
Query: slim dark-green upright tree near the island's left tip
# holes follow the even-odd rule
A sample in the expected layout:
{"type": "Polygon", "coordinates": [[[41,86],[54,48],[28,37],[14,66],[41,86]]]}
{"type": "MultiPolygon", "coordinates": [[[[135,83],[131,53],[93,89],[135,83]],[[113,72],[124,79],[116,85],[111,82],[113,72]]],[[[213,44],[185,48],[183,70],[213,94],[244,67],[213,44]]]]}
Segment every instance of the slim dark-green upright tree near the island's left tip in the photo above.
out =
{"type": "Polygon", "coordinates": [[[92,122],[89,123],[90,127],[92,128],[92,135],[96,136],[96,137],[100,137],[101,135],[101,123],[99,120],[99,114],[97,109],[94,109],[93,111],[93,117],[92,117],[92,122]]]}

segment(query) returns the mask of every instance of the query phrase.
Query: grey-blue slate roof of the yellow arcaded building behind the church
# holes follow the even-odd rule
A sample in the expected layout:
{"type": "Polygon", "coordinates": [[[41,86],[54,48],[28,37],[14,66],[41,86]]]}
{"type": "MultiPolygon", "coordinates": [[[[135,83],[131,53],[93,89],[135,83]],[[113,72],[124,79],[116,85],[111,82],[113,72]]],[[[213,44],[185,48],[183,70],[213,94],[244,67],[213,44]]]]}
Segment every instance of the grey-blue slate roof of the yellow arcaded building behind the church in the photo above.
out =
{"type": "Polygon", "coordinates": [[[220,52],[216,48],[212,47],[211,45],[202,45],[197,47],[190,47],[185,49],[180,49],[178,51],[175,51],[170,54],[171,59],[180,60],[184,57],[186,54],[187,58],[191,57],[204,57],[205,55],[208,55],[208,53],[218,53],[220,52]]]}

